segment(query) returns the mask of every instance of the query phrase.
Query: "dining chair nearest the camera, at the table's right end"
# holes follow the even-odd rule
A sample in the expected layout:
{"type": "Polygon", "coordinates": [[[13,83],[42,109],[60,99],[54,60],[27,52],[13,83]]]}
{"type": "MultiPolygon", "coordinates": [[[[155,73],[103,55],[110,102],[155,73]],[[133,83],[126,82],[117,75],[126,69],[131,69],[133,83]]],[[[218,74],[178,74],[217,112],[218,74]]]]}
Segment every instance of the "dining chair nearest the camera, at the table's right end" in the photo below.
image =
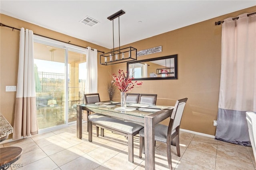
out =
{"type": "MultiPolygon", "coordinates": [[[[154,128],[155,141],[166,143],[167,160],[169,168],[172,169],[172,156],[171,156],[171,142],[175,138],[174,144],[176,145],[177,154],[180,157],[180,121],[188,98],[176,101],[172,115],[170,116],[169,125],[157,124],[154,128]]],[[[140,130],[140,154],[142,157],[142,150],[144,148],[144,129],[140,130]]]]}

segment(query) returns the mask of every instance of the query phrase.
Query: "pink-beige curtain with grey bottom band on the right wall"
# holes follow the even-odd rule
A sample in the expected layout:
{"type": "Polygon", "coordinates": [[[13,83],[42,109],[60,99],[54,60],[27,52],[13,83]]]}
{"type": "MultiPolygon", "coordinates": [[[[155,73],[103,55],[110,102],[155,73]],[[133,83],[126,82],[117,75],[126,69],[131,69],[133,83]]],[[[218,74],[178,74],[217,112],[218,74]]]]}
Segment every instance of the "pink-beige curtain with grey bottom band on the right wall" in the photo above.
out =
{"type": "Polygon", "coordinates": [[[222,24],[216,139],[250,145],[246,111],[256,111],[256,15],[222,24]]]}

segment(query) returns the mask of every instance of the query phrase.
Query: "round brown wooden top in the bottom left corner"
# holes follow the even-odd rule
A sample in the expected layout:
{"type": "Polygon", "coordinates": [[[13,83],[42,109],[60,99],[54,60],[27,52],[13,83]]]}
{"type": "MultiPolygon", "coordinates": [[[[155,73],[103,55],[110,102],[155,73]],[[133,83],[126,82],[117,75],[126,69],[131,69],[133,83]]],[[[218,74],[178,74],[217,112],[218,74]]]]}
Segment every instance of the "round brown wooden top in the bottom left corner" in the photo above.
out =
{"type": "Polygon", "coordinates": [[[0,164],[1,170],[12,166],[16,160],[21,156],[22,148],[20,147],[4,147],[0,148],[0,164]]]}

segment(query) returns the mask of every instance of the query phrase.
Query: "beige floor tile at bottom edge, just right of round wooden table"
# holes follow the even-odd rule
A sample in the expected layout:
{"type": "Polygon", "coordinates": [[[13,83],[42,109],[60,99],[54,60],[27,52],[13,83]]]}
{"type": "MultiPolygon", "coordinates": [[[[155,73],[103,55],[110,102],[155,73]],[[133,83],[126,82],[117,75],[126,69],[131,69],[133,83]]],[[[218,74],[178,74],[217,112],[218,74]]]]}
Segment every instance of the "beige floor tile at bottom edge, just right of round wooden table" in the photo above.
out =
{"type": "Polygon", "coordinates": [[[46,157],[18,168],[18,170],[56,170],[56,168],[58,168],[58,166],[49,157],[46,157]]]}

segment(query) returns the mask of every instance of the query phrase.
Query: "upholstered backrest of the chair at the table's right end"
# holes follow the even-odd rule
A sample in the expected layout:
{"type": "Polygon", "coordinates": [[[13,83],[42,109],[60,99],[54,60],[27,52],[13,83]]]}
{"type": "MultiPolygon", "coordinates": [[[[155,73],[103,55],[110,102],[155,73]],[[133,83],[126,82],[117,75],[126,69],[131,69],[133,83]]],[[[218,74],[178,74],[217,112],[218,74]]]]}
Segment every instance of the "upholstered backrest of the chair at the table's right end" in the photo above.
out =
{"type": "Polygon", "coordinates": [[[171,135],[172,131],[180,126],[182,114],[188,98],[177,100],[172,115],[170,117],[170,123],[168,127],[168,134],[171,135]]]}

